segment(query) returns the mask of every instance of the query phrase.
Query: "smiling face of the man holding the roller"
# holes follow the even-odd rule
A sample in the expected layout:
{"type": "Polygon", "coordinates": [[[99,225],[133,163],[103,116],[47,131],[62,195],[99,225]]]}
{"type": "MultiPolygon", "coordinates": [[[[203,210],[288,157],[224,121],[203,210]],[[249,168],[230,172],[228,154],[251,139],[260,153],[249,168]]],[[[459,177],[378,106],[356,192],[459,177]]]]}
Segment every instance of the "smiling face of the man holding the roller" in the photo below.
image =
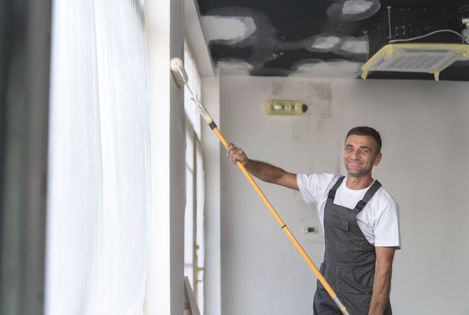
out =
{"type": "Polygon", "coordinates": [[[344,163],[349,176],[362,177],[371,173],[381,156],[372,137],[350,135],[345,139],[344,163]]]}

